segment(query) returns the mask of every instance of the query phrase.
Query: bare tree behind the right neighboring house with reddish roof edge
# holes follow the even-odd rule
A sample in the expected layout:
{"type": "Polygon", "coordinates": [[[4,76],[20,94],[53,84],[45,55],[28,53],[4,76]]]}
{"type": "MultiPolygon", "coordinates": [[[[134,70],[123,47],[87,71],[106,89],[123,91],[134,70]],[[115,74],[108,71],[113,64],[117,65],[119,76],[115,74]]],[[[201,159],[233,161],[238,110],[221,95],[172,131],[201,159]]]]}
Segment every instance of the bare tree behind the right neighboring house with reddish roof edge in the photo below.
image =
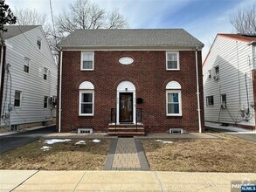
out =
{"type": "Polygon", "coordinates": [[[239,9],[232,13],[230,21],[239,33],[256,34],[256,5],[248,9],[239,9]]]}

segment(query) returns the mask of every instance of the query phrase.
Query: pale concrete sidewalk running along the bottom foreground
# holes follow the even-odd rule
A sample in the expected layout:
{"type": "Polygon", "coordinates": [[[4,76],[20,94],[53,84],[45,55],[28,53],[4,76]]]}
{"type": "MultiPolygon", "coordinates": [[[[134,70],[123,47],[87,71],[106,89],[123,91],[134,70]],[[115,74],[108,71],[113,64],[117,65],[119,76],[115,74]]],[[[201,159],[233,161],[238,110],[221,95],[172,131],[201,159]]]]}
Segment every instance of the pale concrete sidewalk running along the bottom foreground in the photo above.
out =
{"type": "Polygon", "coordinates": [[[0,191],[231,191],[256,174],[0,170],[0,191]]]}

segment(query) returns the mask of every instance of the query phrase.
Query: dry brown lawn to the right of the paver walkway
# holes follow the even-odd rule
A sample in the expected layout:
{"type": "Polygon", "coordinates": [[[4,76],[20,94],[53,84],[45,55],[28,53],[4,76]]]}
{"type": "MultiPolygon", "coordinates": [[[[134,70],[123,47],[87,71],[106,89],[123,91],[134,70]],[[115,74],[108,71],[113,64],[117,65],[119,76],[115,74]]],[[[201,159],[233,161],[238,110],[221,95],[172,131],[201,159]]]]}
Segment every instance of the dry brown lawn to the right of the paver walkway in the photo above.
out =
{"type": "Polygon", "coordinates": [[[256,173],[256,144],[225,134],[225,140],[142,140],[150,169],[189,172],[256,173]]]}

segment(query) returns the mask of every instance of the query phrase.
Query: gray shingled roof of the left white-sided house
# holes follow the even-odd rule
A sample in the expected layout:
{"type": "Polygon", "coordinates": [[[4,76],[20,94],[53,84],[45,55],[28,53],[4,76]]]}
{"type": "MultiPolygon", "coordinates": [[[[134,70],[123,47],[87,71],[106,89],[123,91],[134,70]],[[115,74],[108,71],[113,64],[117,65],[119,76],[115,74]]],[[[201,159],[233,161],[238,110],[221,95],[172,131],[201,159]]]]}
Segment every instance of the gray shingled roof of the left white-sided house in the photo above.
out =
{"type": "Polygon", "coordinates": [[[3,38],[13,38],[23,32],[30,31],[40,25],[4,25],[7,32],[3,32],[3,38]]]}

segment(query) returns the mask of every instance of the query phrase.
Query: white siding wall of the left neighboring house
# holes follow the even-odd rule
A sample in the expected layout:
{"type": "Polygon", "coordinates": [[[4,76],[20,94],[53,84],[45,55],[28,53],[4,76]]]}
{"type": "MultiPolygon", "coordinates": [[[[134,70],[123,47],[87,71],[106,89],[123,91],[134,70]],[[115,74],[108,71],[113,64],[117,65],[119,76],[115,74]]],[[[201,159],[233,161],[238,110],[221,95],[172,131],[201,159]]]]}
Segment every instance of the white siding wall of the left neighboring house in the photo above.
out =
{"type": "Polygon", "coordinates": [[[9,38],[6,44],[6,63],[10,64],[10,75],[5,71],[2,113],[9,113],[9,103],[12,110],[10,120],[1,120],[1,126],[52,120],[55,108],[50,102],[44,108],[44,97],[57,95],[57,66],[42,28],[39,26],[9,38]],[[41,39],[40,50],[37,46],[38,38],[41,39]],[[24,72],[24,58],[30,59],[29,73],[24,72]],[[49,70],[46,80],[43,79],[44,67],[49,70]],[[14,107],[15,90],[22,92],[20,107],[14,107]]]}

